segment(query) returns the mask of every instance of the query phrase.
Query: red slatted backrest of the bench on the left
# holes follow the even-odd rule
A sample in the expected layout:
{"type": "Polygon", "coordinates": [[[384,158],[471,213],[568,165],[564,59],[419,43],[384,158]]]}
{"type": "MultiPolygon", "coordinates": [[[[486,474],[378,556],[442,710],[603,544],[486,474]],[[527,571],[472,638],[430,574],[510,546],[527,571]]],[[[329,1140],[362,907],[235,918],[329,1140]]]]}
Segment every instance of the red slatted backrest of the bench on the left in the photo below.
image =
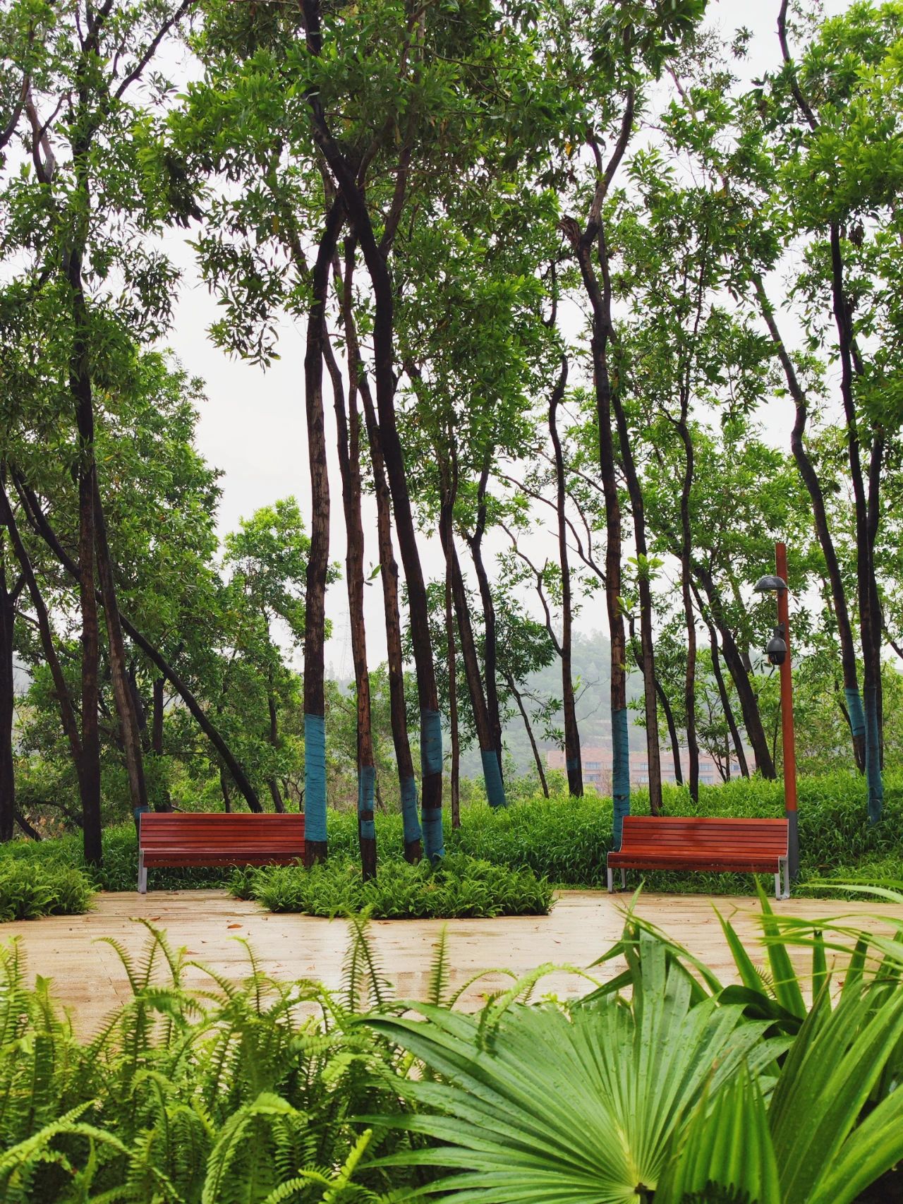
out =
{"type": "Polygon", "coordinates": [[[253,815],[243,811],[144,811],[138,828],[143,852],[173,849],[203,852],[260,851],[300,856],[303,815],[253,815]]]}

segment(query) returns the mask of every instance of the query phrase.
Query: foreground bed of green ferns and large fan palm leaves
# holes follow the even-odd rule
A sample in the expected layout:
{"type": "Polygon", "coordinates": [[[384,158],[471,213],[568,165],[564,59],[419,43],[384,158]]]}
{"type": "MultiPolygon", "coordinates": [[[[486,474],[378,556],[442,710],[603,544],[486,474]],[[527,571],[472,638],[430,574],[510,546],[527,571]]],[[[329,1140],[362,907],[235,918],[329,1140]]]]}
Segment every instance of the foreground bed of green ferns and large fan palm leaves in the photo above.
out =
{"type": "MultiPolygon", "coordinates": [[[[884,891],[903,904],[903,896],[884,891]]],[[[724,921],[725,986],[635,914],[582,998],[537,969],[462,1014],[454,945],[397,1001],[353,926],[344,984],[209,975],[148,925],[132,998],[78,1040],[0,952],[10,1204],[878,1204],[903,1158],[903,922],[774,916],[765,966],[724,921]],[[808,964],[795,972],[793,945],[808,964]],[[852,961],[850,949],[855,946],[852,961]],[[845,950],[840,979],[831,962],[845,950]],[[755,961],[754,961],[755,958],[755,961]],[[618,968],[618,966],[615,967],[618,968]],[[742,1140],[739,1135],[742,1134],[742,1140]]],[[[588,978],[597,972],[590,968],[588,978]]]]}

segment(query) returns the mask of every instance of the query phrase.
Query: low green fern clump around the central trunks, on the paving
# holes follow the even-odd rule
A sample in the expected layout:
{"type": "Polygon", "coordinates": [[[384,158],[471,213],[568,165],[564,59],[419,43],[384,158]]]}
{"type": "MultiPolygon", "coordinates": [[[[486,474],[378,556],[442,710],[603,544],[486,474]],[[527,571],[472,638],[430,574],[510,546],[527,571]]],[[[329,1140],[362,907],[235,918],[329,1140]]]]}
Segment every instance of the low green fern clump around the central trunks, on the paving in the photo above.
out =
{"type": "Polygon", "coordinates": [[[432,869],[426,862],[385,862],[365,883],[358,866],[330,860],[312,869],[276,866],[237,870],[231,891],[270,911],[348,915],[364,911],[379,920],[545,915],[553,891],[529,869],[508,869],[452,854],[432,869]]]}

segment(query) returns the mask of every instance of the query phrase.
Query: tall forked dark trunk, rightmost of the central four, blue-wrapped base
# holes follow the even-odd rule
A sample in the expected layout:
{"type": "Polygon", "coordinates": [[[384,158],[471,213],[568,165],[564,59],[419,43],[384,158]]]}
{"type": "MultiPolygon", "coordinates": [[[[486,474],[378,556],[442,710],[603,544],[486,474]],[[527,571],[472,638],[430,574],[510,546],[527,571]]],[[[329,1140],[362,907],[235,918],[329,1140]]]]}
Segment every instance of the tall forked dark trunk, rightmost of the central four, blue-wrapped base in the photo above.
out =
{"type": "MultiPolygon", "coordinates": [[[[319,0],[301,0],[305,17],[307,48],[319,54],[323,48],[319,0]]],[[[391,246],[393,230],[386,229],[382,243],[373,234],[370,211],[356,179],[358,167],[350,165],[326,123],[318,88],[307,92],[307,101],[313,120],[313,134],[326,163],[338,184],[354,226],[364,261],[373,287],[373,379],[376,403],[379,415],[379,436],[389,478],[389,489],[395,512],[399,549],[405,566],[408,588],[408,613],[411,616],[411,642],[417,671],[417,691],[420,706],[420,765],[423,774],[421,815],[424,851],[430,861],[438,861],[444,854],[442,834],[442,719],[438,710],[436,673],[432,662],[430,637],[430,609],[426,597],[423,566],[414,527],[414,515],[408,494],[405,456],[395,417],[395,297],[386,256],[391,246]]],[[[393,209],[400,214],[403,202],[403,178],[406,167],[399,171],[393,209]]],[[[397,218],[396,218],[397,223],[397,218]]]]}

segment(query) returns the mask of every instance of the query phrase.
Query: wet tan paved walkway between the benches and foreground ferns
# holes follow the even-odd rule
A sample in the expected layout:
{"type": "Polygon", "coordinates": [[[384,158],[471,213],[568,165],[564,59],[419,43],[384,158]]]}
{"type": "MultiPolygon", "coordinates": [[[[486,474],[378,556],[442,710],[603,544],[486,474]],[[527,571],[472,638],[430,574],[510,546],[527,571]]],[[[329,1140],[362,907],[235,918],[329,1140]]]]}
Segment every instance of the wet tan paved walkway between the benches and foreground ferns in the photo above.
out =
{"type": "MultiPolygon", "coordinates": [[[[454,987],[485,969],[504,968],[520,975],[545,962],[589,966],[619,938],[627,898],[600,891],[562,891],[548,916],[374,920],[371,931],[382,967],[397,993],[403,998],[423,998],[427,991],[431,950],[443,923],[449,932],[454,987]]],[[[701,957],[722,981],[731,981],[733,961],[713,907],[731,920],[752,960],[762,961],[755,948],[759,932],[755,899],[647,895],[638,910],[701,957]]],[[[870,902],[789,899],[774,907],[781,913],[811,919],[856,913],[862,917],[862,926],[872,929],[884,927],[875,916],[903,920],[903,908],[870,902]]],[[[53,993],[72,1009],[79,1031],[88,1033],[100,1026],[118,1002],[129,998],[128,979],[116,951],[98,938],[113,937],[137,954],[147,940],[143,925],[134,922],[138,916],[165,928],[173,946],[184,946],[190,957],[230,979],[241,979],[247,972],[247,951],[231,939],[244,937],[260,968],[272,978],[315,978],[329,986],[341,984],[348,939],[343,920],[270,915],[255,903],[230,898],[225,891],[100,895],[95,910],[88,915],[0,925],[0,940],[13,936],[23,938],[29,981],[35,974],[53,979],[53,993]]],[[[799,964],[805,966],[807,961],[803,954],[799,964]]],[[[621,968],[621,962],[613,961],[590,973],[610,978],[621,968]]],[[[203,981],[199,970],[189,970],[189,985],[200,986],[203,981]]],[[[486,992],[509,982],[503,974],[491,974],[468,987],[464,1002],[478,1007],[486,992]]],[[[562,996],[585,990],[585,980],[565,970],[554,972],[541,986],[541,991],[562,996]]]]}

